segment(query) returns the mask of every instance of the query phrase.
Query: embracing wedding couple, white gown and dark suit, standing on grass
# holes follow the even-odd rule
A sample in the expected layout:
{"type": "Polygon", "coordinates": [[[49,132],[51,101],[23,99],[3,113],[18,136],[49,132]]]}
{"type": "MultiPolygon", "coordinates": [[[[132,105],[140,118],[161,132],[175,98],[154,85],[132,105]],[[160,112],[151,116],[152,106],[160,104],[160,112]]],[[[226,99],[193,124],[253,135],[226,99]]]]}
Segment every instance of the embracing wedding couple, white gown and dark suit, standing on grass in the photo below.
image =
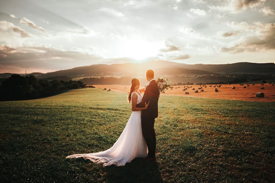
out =
{"type": "Polygon", "coordinates": [[[148,86],[139,89],[140,82],[132,79],[128,101],[132,103],[132,114],[115,144],[105,151],[73,154],[66,158],[83,157],[103,166],[124,166],[141,157],[146,161],[156,160],[155,118],[158,117],[159,88],[154,79],[154,71],[146,71],[148,86]],[[144,92],[142,97],[141,93],[144,92]]]}

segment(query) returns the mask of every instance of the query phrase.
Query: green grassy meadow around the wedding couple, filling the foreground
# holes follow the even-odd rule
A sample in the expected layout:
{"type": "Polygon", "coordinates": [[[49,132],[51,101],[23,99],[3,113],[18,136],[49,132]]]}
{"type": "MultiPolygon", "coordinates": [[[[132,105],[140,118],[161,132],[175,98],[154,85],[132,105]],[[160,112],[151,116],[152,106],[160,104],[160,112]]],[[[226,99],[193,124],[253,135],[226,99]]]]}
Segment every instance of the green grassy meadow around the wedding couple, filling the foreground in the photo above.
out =
{"type": "Polygon", "coordinates": [[[160,96],[156,162],[65,159],[110,148],[131,114],[98,88],[0,102],[1,182],[274,182],[275,103],[160,96]]]}

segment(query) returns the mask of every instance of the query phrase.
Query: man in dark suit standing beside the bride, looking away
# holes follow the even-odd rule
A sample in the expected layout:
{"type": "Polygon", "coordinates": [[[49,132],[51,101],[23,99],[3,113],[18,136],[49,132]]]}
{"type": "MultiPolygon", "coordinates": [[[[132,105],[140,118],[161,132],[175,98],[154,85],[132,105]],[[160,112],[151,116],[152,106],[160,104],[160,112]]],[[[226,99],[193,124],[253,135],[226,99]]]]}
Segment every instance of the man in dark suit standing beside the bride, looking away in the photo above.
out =
{"type": "Polygon", "coordinates": [[[145,102],[149,103],[147,109],[141,111],[141,128],[142,135],[145,138],[148,147],[148,156],[146,160],[156,160],[156,133],[154,130],[155,118],[158,117],[158,101],[159,101],[159,88],[156,80],[154,79],[155,73],[152,69],[146,71],[146,79],[149,85],[145,89],[142,102],[137,107],[144,107],[145,102]]]}

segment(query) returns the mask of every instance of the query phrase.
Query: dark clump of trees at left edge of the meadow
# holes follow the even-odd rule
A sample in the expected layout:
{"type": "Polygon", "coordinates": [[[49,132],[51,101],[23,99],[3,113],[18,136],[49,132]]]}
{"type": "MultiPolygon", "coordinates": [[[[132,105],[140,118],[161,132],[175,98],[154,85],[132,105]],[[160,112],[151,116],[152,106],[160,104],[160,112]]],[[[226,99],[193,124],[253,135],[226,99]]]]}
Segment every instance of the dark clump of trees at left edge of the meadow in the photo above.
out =
{"type": "Polygon", "coordinates": [[[0,100],[39,99],[60,93],[60,91],[86,87],[81,81],[47,81],[34,75],[13,74],[0,85],[0,100]]]}

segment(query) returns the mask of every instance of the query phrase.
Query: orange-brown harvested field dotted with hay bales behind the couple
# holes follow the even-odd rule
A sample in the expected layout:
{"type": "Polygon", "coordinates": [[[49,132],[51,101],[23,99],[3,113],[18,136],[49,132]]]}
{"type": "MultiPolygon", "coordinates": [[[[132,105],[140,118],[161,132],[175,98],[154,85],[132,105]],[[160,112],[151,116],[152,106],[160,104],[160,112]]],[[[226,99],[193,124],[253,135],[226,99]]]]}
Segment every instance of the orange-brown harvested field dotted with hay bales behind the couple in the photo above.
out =
{"type": "MultiPolygon", "coordinates": [[[[96,88],[108,88],[111,89],[111,91],[119,91],[119,92],[125,92],[128,93],[130,86],[129,85],[93,85],[96,88]]],[[[213,98],[213,99],[230,99],[230,100],[247,100],[247,101],[260,101],[260,102],[275,102],[275,86],[272,86],[272,84],[264,84],[263,86],[261,84],[255,84],[255,86],[252,86],[252,84],[249,84],[246,86],[246,88],[243,88],[244,86],[240,86],[240,84],[222,84],[220,88],[218,88],[218,84],[216,88],[218,88],[218,92],[215,92],[215,84],[212,84],[212,87],[210,87],[210,84],[207,84],[206,88],[200,85],[185,85],[185,87],[189,86],[186,91],[189,91],[189,94],[185,94],[185,91],[182,91],[184,88],[184,85],[180,86],[173,86],[174,88],[172,90],[167,90],[165,93],[161,93],[160,95],[175,95],[175,96],[185,96],[185,97],[199,97],[199,98],[213,98]],[[235,89],[232,89],[232,87],[235,86],[235,89]],[[177,88],[176,88],[177,87],[177,88]],[[179,87],[179,88],[178,88],[179,87]],[[200,91],[198,89],[199,87],[203,87],[204,91],[200,91]],[[260,89],[261,87],[264,87],[265,89],[260,89]],[[192,88],[195,88],[195,90],[198,90],[198,93],[195,93],[192,88]],[[263,92],[265,94],[264,98],[258,98],[256,97],[257,92],[263,92]]]]}

